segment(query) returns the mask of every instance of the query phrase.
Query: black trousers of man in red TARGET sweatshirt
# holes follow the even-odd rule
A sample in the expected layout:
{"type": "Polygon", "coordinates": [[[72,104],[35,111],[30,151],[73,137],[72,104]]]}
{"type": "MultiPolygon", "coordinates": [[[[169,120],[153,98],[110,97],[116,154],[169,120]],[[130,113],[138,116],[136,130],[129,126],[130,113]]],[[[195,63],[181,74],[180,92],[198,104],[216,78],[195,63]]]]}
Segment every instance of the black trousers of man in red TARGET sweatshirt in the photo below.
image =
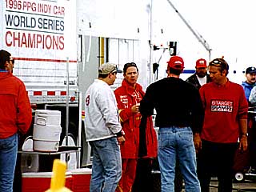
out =
{"type": "Polygon", "coordinates": [[[218,178],[218,192],[232,192],[234,154],[238,143],[202,140],[198,153],[198,179],[202,192],[210,192],[210,178],[218,178]]]}

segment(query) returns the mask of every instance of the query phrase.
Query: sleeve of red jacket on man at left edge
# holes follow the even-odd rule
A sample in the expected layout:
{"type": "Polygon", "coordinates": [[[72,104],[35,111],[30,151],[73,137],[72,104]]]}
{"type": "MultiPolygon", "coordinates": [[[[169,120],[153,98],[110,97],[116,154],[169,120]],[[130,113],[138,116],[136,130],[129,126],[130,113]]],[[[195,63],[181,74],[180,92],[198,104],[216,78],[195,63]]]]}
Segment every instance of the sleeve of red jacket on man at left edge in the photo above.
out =
{"type": "Polygon", "coordinates": [[[22,134],[26,134],[30,128],[32,121],[32,111],[30,106],[30,99],[26,93],[26,88],[22,83],[19,86],[17,98],[17,126],[22,134]]]}

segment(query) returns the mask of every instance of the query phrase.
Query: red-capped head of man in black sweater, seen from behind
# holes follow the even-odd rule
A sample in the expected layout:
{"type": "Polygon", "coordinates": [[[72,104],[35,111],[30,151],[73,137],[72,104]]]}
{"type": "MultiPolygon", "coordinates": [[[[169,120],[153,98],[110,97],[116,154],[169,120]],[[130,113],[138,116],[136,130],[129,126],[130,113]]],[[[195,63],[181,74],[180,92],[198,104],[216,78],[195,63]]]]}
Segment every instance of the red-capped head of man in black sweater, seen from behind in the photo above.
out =
{"type": "Polygon", "coordinates": [[[182,71],[184,70],[184,61],[183,58],[179,56],[172,56],[169,60],[167,70],[170,74],[182,74],[182,71]]]}

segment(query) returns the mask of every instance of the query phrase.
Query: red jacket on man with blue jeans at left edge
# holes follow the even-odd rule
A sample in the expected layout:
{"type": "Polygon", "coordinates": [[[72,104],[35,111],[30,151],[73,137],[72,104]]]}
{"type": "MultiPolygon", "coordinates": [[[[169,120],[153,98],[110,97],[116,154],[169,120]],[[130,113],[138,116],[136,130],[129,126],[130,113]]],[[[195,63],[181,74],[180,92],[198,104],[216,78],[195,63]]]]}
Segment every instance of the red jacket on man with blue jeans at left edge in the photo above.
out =
{"type": "Polygon", "coordinates": [[[30,128],[32,111],[24,83],[13,74],[0,71],[0,138],[9,138],[30,128]]]}

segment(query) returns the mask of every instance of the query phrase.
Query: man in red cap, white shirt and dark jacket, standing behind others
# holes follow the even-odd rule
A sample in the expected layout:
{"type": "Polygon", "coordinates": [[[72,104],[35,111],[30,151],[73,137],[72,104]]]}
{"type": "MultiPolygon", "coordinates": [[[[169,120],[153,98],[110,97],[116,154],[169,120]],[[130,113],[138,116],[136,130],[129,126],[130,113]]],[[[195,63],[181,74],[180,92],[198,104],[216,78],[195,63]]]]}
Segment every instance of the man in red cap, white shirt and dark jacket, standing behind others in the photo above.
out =
{"type": "Polygon", "coordinates": [[[199,58],[195,65],[195,73],[186,79],[186,82],[192,83],[200,89],[201,86],[210,82],[210,75],[207,74],[207,62],[204,58],[199,58]]]}

